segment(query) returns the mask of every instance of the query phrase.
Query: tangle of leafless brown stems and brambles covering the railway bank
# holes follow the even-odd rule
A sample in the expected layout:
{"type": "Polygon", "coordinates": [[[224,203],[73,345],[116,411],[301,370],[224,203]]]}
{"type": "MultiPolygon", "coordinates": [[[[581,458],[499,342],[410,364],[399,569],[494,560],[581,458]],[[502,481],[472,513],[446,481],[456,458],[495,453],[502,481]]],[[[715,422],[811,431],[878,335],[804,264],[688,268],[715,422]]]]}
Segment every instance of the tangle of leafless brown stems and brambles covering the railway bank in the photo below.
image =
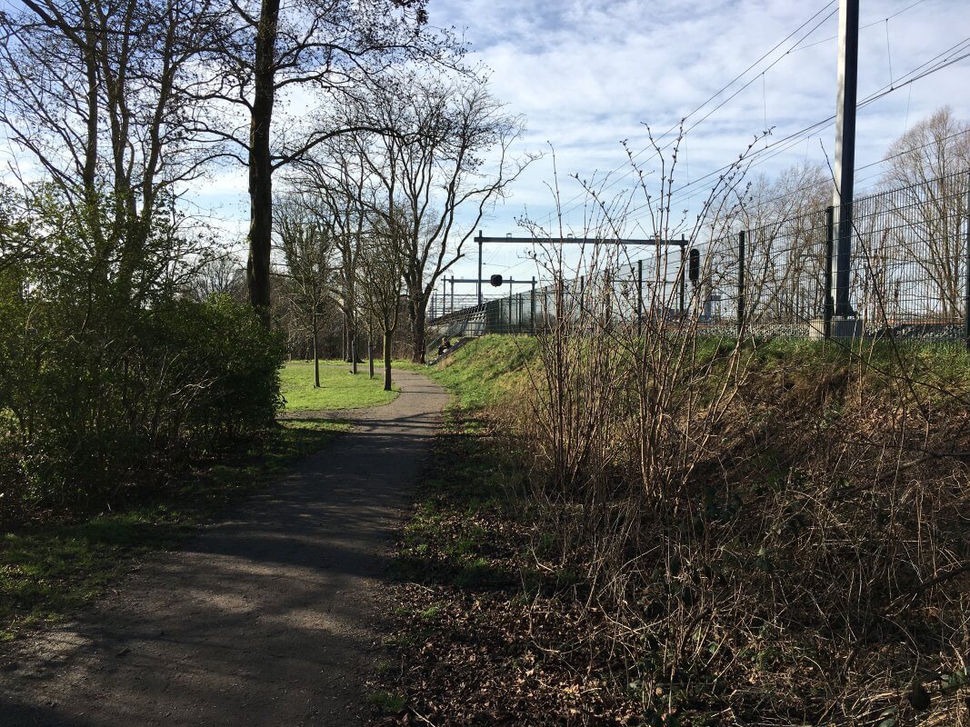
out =
{"type": "MultiPolygon", "coordinates": [[[[743,171],[690,229],[672,169],[656,194],[641,175],[655,238],[729,222],[743,171]]],[[[582,237],[629,237],[629,200],[589,193],[582,237]]],[[[591,245],[570,270],[570,231],[531,229],[555,315],[514,427],[559,565],[607,615],[590,638],[647,722],[970,725],[967,393],[898,352],[771,363],[743,331],[705,340],[709,263],[682,305],[683,258],[658,248],[640,305],[614,277],[622,249],[591,245]]]]}

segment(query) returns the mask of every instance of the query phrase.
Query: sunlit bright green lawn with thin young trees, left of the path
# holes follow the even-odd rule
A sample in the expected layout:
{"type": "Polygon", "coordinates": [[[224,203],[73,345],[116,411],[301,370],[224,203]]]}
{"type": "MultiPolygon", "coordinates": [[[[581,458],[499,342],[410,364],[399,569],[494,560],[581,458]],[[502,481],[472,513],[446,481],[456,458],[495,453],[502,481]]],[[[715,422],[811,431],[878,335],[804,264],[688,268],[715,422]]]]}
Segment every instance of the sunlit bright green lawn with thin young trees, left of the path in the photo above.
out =
{"type": "Polygon", "coordinates": [[[383,368],[374,368],[374,377],[368,377],[367,363],[358,364],[359,373],[350,373],[350,364],[339,361],[320,362],[320,388],[313,388],[313,362],[291,361],[279,373],[286,411],[312,411],[315,409],[361,409],[367,406],[389,404],[398,397],[401,389],[384,391],[383,368]]]}

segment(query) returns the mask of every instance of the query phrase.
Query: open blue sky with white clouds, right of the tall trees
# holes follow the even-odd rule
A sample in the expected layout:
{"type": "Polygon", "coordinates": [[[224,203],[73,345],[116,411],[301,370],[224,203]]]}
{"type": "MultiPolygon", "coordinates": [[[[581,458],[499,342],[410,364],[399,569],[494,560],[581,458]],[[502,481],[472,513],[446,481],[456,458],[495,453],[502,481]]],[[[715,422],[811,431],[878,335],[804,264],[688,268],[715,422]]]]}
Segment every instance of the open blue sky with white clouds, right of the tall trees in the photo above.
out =
{"type": "MultiPolygon", "coordinates": [[[[861,6],[860,101],[912,78],[922,64],[970,52],[965,0],[865,0],[861,6]]],[[[646,125],[663,134],[687,117],[675,179],[675,188],[693,182],[684,206],[706,191],[705,174],[736,159],[765,129],[771,134],[760,146],[774,144],[772,153],[758,157],[752,174],[776,174],[832,154],[834,122],[783,140],[834,114],[835,0],[433,0],[430,13],[432,23],[464,34],[473,57],[492,70],[494,94],[526,116],[523,146],[546,153],[483,222],[486,235],[525,235],[517,227],[525,214],[551,221],[551,149],[562,198],[570,203],[566,221],[581,226],[580,189],[568,174],[612,174],[613,192],[629,185],[621,142],[633,151],[649,146],[646,125]]],[[[889,142],[908,125],[948,104],[970,118],[968,71],[970,59],[959,61],[858,112],[857,190],[877,181],[889,142]]],[[[644,171],[658,169],[649,153],[637,161],[644,171]]],[[[511,246],[486,247],[485,261],[486,276],[532,274],[523,251],[511,246]]],[[[469,259],[459,274],[473,270],[469,259]]]]}

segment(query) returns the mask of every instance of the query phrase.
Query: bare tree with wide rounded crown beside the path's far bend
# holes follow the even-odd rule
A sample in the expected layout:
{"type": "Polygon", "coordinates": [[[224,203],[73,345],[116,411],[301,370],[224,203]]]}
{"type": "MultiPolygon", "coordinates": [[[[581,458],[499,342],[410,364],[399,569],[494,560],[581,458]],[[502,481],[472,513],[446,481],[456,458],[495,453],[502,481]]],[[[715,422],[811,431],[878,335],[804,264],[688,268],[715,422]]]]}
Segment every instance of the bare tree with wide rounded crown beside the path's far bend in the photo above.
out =
{"type": "Polygon", "coordinates": [[[412,360],[424,362],[428,301],[463,255],[487,205],[535,158],[513,157],[523,119],[489,94],[486,79],[410,75],[377,89],[351,111],[360,126],[386,128],[366,146],[384,209],[404,210],[404,281],[412,360]],[[456,222],[462,215],[462,230],[456,222]]]}

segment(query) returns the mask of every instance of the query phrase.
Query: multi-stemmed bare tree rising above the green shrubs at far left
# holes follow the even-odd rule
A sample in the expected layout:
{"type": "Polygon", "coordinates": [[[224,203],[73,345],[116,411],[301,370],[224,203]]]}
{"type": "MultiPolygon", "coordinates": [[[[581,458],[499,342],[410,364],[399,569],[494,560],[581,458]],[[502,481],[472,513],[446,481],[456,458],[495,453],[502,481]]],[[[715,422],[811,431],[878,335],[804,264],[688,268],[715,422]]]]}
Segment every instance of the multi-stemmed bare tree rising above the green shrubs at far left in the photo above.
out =
{"type": "Polygon", "coordinates": [[[210,0],[24,0],[0,14],[0,124],[124,300],[189,252],[157,228],[174,227],[178,185],[219,153],[200,143],[188,90],[211,82],[199,60],[218,25],[210,0]]]}

